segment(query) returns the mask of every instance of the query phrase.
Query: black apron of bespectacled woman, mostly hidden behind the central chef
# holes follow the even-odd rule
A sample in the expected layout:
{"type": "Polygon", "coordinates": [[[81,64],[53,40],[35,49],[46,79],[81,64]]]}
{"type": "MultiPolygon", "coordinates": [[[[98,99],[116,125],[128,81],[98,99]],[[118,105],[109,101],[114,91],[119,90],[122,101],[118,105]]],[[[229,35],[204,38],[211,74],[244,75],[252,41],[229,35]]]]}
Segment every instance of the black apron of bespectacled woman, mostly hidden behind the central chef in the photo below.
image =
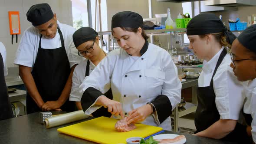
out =
{"type": "MultiPolygon", "coordinates": [[[[86,76],[89,76],[89,69],[90,69],[90,61],[89,59],[87,60],[87,63],[86,63],[86,71],[85,71],[85,77],[86,76]]],[[[111,88],[108,90],[108,92],[106,92],[104,94],[107,98],[109,99],[113,99],[113,95],[112,95],[112,90],[111,88]]],[[[104,117],[108,117],[110,118],[111,117],[111,113],[108,112],[108,108],[104,108],[103,106],[101,108],[99,108],[98,110],[94,111],[92,113],[92,116],[94,117],[101,117],[101,116],[104,116],[104,117]]]]}

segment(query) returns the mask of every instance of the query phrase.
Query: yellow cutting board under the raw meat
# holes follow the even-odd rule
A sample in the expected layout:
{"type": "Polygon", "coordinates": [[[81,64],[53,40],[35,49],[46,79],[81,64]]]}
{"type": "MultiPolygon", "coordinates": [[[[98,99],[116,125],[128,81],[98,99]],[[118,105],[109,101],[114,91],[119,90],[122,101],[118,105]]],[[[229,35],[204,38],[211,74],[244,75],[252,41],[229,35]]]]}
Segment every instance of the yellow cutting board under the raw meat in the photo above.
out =
{"type": "Polygon", "coordinates": [[[129,137],[148,137],[163,128],[145,124],[135,124],[136,129],[128,132],[115,131],[114,118],[99,117],[67,127],[58,128],[57,131],[79,137],[100,144],[126,144],[129,137]]]}

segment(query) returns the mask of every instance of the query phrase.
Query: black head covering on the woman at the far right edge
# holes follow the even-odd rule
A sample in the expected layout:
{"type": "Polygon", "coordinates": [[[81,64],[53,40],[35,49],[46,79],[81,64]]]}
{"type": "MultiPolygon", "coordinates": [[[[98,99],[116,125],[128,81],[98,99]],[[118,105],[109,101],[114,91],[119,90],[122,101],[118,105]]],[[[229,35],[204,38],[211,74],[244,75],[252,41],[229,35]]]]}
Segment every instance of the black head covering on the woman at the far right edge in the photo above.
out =
{"type": "Polygon", "coordinates": [[[253,52],[256,52],[256,24],[247,27],[238,37],[237,40],[244,46],[246,49],[249,49],[253,52]]]}

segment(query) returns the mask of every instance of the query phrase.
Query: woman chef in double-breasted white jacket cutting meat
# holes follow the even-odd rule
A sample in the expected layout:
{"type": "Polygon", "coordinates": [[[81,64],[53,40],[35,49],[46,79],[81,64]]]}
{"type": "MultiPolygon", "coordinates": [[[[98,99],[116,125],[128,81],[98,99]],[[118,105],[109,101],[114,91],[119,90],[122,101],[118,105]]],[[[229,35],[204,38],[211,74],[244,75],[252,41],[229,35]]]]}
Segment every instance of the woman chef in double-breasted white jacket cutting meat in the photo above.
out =
{"type": "Polygon", "coordinates": [[[114,118],[128,116],[128,123],[171,130],[170,115],[181,101],[181,82],[170,54],[148,43],[138,13],[115,14],[112,35],[121,49],[110,52],[80,85],[85,114],[104,106],[114,118]],[[103,95],[110,88],[113,100],[103,95]]]}

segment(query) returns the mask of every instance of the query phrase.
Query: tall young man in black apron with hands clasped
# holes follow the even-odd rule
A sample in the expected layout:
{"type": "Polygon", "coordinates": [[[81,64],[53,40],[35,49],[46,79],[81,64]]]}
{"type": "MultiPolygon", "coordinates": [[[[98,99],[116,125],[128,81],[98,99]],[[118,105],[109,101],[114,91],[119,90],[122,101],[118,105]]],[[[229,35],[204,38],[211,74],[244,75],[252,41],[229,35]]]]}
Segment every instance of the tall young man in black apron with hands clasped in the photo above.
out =
{"type": "Polygon", "coordinates": [[[27,113],[74,111],[75,103],[67,99],[81,60],[72,41],[75,29],[59,23],[47,3],[33,5],[26,16],[33,26],[24,32],[14,64],[27,89],[27,113]]]}

